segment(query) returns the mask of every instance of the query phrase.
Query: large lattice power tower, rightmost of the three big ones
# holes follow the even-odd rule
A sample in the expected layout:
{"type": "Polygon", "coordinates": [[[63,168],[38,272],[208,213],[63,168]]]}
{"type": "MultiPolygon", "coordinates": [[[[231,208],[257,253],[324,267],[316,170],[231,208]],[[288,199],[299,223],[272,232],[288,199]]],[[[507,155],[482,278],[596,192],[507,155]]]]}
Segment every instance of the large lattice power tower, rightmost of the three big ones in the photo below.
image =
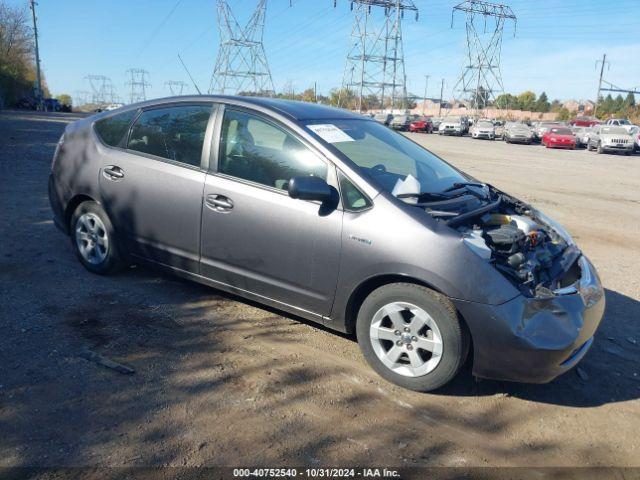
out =
{"type": "Polygon", "coordinates": [[[480,0],[466,0],[451,13],[451,27],[456,12],[463,12],[466,18],[467,47],[462,75],[454,87],[457,98],[469,100],[477,115],[496,99],[496,93],[504,93],[500,55],[502,34],[507,21],[517,22],[516,15],[508,5],[480,0]]]}

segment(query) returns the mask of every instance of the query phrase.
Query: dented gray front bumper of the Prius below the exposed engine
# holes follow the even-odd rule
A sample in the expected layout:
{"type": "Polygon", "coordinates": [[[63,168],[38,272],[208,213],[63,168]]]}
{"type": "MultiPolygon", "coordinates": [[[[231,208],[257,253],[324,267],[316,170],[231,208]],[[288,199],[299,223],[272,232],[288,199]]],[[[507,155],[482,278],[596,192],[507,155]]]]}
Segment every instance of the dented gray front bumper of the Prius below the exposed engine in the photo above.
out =
{"type": "Polygon", "coordinates": [[[580,258],[575,291],[550,299],[516,297],[502,305],[454,300],[474,345],[474,375],[546,383],[587,353],[602,320],[604,290],[593,265],[580,258]]]}

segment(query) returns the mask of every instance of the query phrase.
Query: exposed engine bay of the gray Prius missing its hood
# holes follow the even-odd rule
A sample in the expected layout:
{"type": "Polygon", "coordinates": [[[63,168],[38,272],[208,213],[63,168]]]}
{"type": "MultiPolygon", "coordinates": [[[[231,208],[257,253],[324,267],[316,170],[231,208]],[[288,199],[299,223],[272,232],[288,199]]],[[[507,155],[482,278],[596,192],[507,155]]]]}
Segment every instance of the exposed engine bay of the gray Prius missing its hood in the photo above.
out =
{"type": "Polygon", "coordinates": [[[475,208],[460,211],[449,204],[447,212],[442,203],[436,207],[431,202],[426,211],[446,218],[469,248],[492,263],[524,295],[550,298],[558,289],[573,285],[580,278],[580,251],[538,218],[531,206],[488,188],[489,195],[475,208]],[[456,210],[457,215],[450,216],[456,210]]]}

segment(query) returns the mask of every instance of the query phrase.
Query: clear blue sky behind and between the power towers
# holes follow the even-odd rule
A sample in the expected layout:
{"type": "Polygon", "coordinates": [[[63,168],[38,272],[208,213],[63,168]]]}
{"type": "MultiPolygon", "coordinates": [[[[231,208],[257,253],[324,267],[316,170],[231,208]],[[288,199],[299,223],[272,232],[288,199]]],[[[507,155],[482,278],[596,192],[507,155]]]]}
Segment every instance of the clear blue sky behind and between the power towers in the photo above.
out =
{"type": "MultiPolygon", "coordinates": [[[[27,6],[27,0],[5,0],[27,6]]],[[[459,0],[462,1],[462,0],[459,0]]],[[[451,25],[459,1],[414,0],[419,19],[403,23],[407,89],[450,98],[466,46],[464,17],[451,25]]],[[[215,0],[38,0],[40,56],[53,95],[90,90],[89,74],[110,77],[126,99],[126,70],[149,72],[148,97],[169,94],[169,80],[189,83],[181,55],[200,89],[209,88],[218,50],[215,0]]],[[[229,0],[246,21],[257,0],[229,0]]],[[[593,99],[607,54],[604,78],[640,87],[640,0],[508,0],[517,26],[504,32],[501,70],[509,93],[545,91],[550,99],[593,99]]],[[[264,45],[276,86],[301,91],[317,82],[328,93],[340,86],[351,44],[348,0],[269,0],[264,45]]]]}

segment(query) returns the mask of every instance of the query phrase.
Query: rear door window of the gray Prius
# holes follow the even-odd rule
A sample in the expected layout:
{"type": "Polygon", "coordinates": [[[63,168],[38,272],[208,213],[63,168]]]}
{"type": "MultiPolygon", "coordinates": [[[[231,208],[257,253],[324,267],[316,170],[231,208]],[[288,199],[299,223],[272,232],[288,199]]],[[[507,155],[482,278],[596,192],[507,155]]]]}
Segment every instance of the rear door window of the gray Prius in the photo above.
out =
{"type": "Polygon", "coordinates": [[[146,110],[133,127],[127,148],[200,167],[212,105],[180,105],[146,110]]]}

